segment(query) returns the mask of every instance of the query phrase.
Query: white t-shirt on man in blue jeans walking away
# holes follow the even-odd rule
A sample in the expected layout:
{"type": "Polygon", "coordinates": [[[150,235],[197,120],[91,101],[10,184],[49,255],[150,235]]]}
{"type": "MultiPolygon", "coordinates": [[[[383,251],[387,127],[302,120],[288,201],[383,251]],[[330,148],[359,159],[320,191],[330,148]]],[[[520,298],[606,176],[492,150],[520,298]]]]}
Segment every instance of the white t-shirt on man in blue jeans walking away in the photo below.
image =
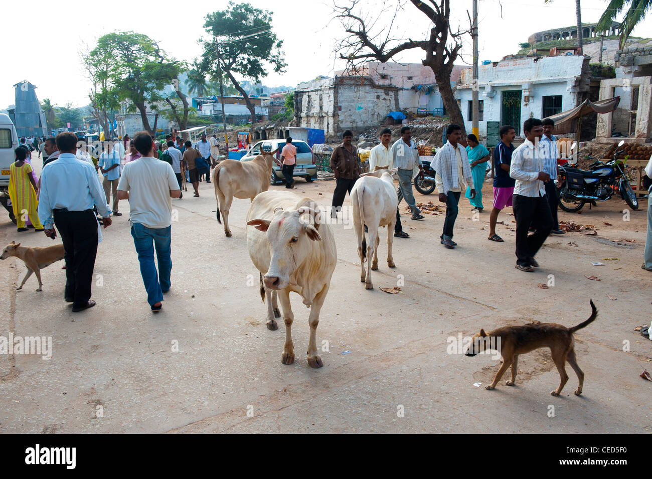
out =
{"type": "Polygon", "coordinates": [[[172,224],[170,190],[178,189],[170,164],[151,156],[127,163],[118,183],[118,190],[129,192],[129,223],[148,228],[172,224]]]}

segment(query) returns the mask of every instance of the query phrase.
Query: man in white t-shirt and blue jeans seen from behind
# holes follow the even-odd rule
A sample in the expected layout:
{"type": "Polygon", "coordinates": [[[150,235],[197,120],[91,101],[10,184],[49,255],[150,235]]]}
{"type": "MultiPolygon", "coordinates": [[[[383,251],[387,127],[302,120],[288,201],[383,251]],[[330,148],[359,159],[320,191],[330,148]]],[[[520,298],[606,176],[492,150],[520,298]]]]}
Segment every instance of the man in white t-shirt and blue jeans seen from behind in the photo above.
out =
{"type": "Polygon", "coordinates": [[[134,136],[132,145],[141,158],[125,165],[118,197],[129,200],[129,222],[134,237],[140,274],[152,311],[162,308],[163,293],[170,289],[171,209],[170,198],[181,196],[181,188],[172,167],[153,157],[154,142],[147,132],[134,136]],[[158,259],[158,275],[154,250],[158,259]]]}

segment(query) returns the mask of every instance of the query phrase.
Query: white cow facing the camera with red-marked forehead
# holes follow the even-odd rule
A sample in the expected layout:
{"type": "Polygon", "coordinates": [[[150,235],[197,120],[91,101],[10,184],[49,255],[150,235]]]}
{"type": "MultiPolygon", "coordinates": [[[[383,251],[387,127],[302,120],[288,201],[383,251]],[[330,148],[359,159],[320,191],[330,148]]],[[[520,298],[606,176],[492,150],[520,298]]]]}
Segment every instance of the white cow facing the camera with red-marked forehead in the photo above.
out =
{"type": "Polygon", "coordinates": [[[267,296],[268,329],[277,328],[274,321],[276,298],[270,291],[274,295],[278,291],[283,310],[286,325],[286,341],[281,356],[283,364],[294,361],[291,334],[294,313],[289,302],[289,293],[294,291],[310,308],[308,364],[312,368],[323,366],[317,354],[315,333],[337,263],[337,252],[333,230],[322,219],[323,211],[316,210],[312,199],[276,190],[256,196],[247,213],[246,242],[249,256],[261,274],[263,302],[267,296]]]}

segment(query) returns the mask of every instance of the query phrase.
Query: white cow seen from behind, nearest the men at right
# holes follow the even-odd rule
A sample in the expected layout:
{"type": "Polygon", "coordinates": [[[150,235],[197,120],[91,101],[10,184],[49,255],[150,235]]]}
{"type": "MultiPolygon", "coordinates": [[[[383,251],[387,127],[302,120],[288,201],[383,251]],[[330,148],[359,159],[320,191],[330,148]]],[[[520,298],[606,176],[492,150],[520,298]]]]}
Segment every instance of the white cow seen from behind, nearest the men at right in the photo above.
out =
{"type": "Polygon", "coordinates": [[[392,242],[394,240],[394,224],[396,224],[396,208],[398,196],[392,175],[395,169],[387,171],[380,168],[372,173],[363,173],[351,190],[353,205],[353,228],[358,237],[358,255],[360,257],[360,281],[366,289],[374,289],[371,282],[371,270],[378,269],[378,228],[387,227],[387,265],[395,268],[392,257],[392,242]],[[364,237],[364,225],[369,231],[369,242],[364,237]],[[373,258],[373,263],[368,260],[373,258]],[[367,270],[364,270],[367,261],[367,270]]]}

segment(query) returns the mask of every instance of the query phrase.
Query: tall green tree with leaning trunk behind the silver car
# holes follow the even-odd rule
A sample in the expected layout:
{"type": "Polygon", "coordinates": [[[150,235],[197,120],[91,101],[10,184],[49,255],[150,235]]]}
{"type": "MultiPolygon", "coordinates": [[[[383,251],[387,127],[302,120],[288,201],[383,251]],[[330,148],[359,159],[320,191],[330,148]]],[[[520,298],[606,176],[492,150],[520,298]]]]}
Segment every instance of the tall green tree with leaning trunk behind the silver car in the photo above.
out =
{"type": "Polygon", "coordinates": [[[220,78],[222,72],[226,74],[243,96],[254,124],[256,109],[235,75],[256,82],[267,76],[267,65],[274,72],[284,70],[283,42],[272,31],[272,12],[231,1],[226,10],[208,14],[205,20],[204,28],[213,40],[204,42],[201,70],[213,78],[220,78]]]}

